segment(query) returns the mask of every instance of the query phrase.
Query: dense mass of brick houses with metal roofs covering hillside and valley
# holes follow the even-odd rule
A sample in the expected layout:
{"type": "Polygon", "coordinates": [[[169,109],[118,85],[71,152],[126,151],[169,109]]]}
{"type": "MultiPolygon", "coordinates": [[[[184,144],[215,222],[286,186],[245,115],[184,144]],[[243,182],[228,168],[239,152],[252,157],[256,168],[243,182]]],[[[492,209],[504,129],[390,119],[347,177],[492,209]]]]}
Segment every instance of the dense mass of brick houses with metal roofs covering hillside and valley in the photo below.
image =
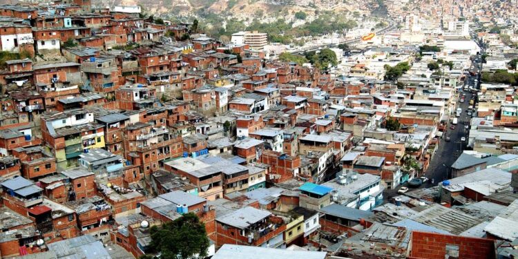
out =
{"type": "Polygon", "coordinates": [[[379,30],[305,51],[1,5],[0,257],[157,256],[192,213],[215,259],[515,258],[515,31],[385,2],[379,30]]]}

